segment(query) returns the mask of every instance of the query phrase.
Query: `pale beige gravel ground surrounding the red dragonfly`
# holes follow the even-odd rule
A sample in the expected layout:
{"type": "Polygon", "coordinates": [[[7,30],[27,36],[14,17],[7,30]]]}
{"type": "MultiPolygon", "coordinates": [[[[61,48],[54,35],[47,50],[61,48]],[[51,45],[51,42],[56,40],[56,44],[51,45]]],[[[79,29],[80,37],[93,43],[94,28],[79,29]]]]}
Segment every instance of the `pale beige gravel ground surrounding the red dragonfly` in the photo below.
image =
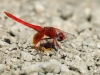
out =
{"type": "Polygon", "coordinates": [[[100,75],[99,15],[100,0],[0,0],[0,75],[100,75]],[[36,31],[4,11],[76,38],[41,57],[30,47],[36,31]]]}

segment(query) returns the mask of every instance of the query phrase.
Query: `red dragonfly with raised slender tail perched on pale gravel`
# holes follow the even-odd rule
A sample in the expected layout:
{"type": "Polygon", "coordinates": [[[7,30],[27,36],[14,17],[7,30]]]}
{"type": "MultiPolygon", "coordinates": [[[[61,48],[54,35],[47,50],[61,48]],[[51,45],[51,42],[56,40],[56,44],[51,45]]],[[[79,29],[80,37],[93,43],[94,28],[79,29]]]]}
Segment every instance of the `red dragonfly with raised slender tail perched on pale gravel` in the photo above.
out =
{"type": "Polygon", "coordinates": [[[33,45],[34,45],[33,48],[36,50],[42,50],[42,51],[47,51],[51,49],[57,50],[56,47],[61,49],[58,42],[62,42],[65,39],[71,39],[75,37],[74,35],[64,32],[60,29],[54,27],[41,27],[39,25],[30,24],[15,17],[14,15],[8,12],[4,13],[13,20],[37,31],[37,33],[33,37],[33,45]]]}

